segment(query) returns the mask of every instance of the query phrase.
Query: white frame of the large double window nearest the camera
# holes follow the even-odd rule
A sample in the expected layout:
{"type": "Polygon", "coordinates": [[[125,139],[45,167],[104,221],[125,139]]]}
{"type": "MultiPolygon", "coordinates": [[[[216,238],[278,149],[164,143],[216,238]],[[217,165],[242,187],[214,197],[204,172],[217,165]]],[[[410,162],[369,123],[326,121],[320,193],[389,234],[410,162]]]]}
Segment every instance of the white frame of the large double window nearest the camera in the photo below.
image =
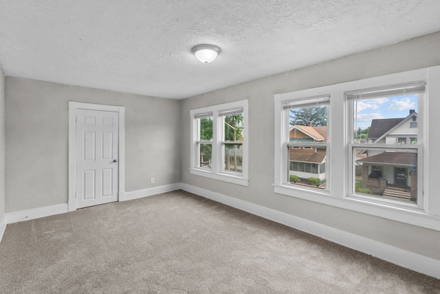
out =
{"type": "MultiPolygon", "coordinates": [[[[440,136],[437,125],[439,125],[438,112],[440,111],[440,66],[427,67],[409,72],[399,72],[386,76],[366,78],[359,81],[351,81],[317,87],[297,92],[276,94],[274,96],[275,114],[275,171],[274,171],[274,192],[294,198],[300,198],[313,202],[340,207],[366,213],[371,216],[378,216],[389,220],[396,220],[408,224],[414,224],[428,229],[440,231],[440,193],[438,193],[438,182],[436,178],[437,165],[440,162],[440,153],[437,151],[440,145],[440,136]],[[349,118],[348,92],[360,89],[377,87],[388,87],[390,85],[425,82],[424,103],[419,105],[418,123],[422,124],[423,144],[416,145],[419,148],[419,171],[423,179],[418,183],[418,189],[423,189],[423,200],[419,207],[398,205],[384,201],[374,201],[371,197],[353,197],[351,162],[353,154],[350,149],[349,129],[351,121],[349,118]],[[330,95],[329,107],[329,140],[327,143],[327,182],[329,192],[310,191],[286,185],[285,172],[287,170],[284,152],[285,139],[285,118],[283,117],[283,102],[303,97],[330,95]],[[431,126],[431,127],[430,127],[431,126]],[[432,150],[432,152],[429,152],[432,150]],[[429,159],[428,159],[429,158],[429,159]],[[336,160],[337,159],[337,160],[336,160]]],[[[358,144],[356,147],[360,146],[358,144]]],[[[379,147],[370,145],[370,147],[379,147]]],[[[390,146],[388,146],[390,147],[390,146]]],[[[408,145],[396,145],[393,147],[405,148],[408,145]]]]}

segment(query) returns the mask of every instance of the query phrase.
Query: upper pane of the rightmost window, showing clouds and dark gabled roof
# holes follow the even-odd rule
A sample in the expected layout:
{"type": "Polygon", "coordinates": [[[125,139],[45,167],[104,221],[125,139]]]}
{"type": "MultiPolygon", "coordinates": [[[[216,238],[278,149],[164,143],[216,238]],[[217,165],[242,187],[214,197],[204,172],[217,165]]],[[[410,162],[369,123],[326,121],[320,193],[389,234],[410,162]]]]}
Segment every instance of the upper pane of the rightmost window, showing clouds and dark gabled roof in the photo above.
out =
{"type": "Polygon", "coordinates": [[[353,101],[353,143],[407,144],[417,142],[419,94],[353,101]],[[399,135],[405,134],[405,137],[399,135]]]}

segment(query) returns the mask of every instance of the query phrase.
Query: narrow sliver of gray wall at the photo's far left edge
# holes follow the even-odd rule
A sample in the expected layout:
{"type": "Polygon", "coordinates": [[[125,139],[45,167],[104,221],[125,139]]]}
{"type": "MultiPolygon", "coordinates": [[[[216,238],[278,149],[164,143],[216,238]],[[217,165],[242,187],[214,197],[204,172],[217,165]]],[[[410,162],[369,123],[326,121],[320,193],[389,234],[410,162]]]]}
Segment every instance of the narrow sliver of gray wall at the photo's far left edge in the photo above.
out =
{"type": "Polygon", "coordinates": [[[0,69],[0,222],[5,216],[5,76],[0,69]]]}

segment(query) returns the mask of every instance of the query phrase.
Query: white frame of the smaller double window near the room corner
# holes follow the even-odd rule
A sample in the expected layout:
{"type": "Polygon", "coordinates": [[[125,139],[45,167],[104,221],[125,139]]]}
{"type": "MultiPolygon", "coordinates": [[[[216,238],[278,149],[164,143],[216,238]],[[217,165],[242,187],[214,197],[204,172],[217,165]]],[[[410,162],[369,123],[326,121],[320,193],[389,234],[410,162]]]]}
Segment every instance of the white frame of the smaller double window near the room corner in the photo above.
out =
{"type": "Polygon", "coordinates": [[[248,186],[248,100],[236,101],[232,103],[224,103],[220,105],[213,105],[209,107],[203,107],[198,109],[190,109],[190,130],[191,130],[191,147],[190,147],[190,174],[196,176],[203,176],[206,178],[212,178],[214,180],[221,180],[224,182],[231,182],[236,185],[248,186]],[[223,117],[222,113],[231,111],[233,109],[243,109],[243,142],[242,148],[242,169],[241,174],[234,172],[223,171],[223,148],[222,145],[233,144],[234,141],[223,140],[223,117]],[[198,150],[197,142],[199,125],[196,122],[195,117],[198,114],[212,113],[212,158],[211,169],[197,167],[198,165],[198,150]]]}

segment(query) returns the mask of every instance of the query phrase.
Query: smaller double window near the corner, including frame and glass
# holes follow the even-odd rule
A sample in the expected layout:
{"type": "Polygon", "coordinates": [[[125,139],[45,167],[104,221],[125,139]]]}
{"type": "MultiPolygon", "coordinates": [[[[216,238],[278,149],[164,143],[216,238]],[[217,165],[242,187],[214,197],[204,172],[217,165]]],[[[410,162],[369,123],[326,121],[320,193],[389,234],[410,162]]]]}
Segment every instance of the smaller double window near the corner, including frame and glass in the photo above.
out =
{"type": "Polygon", "coordinates": [[[248,101],[192,109],[191,174],[248,185],[248,101]]]}

